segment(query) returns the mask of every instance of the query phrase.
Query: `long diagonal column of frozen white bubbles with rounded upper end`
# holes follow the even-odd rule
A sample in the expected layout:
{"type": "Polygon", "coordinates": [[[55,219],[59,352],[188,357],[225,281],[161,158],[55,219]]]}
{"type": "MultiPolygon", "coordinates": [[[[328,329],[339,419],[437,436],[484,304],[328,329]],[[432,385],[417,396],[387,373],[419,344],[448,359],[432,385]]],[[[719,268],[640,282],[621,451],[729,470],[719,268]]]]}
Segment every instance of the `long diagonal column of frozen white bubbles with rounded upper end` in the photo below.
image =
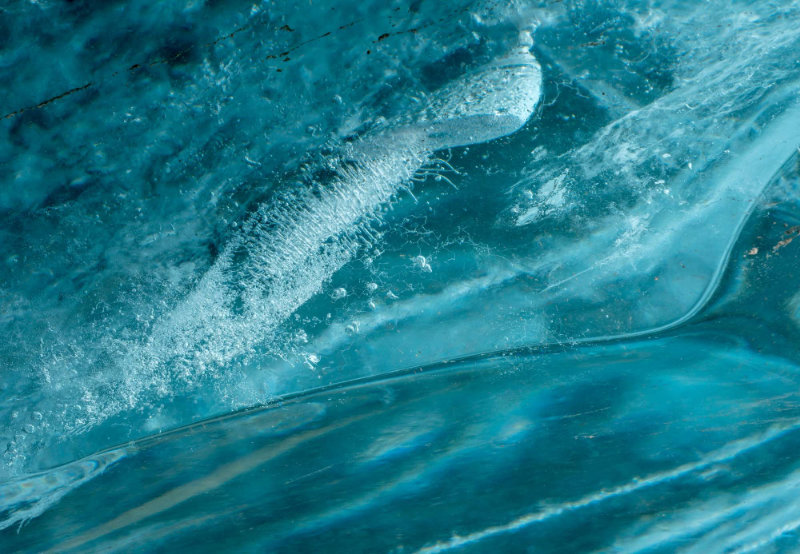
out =
{"type": "MultiPolygon", "coordinates": [[[[139,406],[179,395],[213,405],[217,393],[209,381],[235,381],[232,362],[252,357],[259,345],[269,343],[277,328],[372,240],[370,226],[379,209],[436,150],[515,132],[533,113],[540,90],[541,70],[524,33],[506,56],[434,91],[419,113],[344,146],[332,181],[260,206],[189,295],[144,340],[124,344],[113,367],[88,383],[94,403],[88,426],[82,420],[83,429],[72,428],[76,414],[57,424],[79,435],[87,427],[102,429],[112,417],[136,420],[130,414],[139,406]]],[[[281,392],[286,391],[270,391],[281,392]]],[[[264,399],[260,392],[248,397],[254,393],[241,388],[228,394],[240,395],[239,405],[264,399]]],[[[79,445],[80,439],[71,442],[79,445]]],[[[34,467],[68,461],[63,452],[48,453],[47,445],[45,452],[26,451],[24,441],[15,448],[34,467]]],[[[74,451],[88,453],[79,446],[74,451]]]]}

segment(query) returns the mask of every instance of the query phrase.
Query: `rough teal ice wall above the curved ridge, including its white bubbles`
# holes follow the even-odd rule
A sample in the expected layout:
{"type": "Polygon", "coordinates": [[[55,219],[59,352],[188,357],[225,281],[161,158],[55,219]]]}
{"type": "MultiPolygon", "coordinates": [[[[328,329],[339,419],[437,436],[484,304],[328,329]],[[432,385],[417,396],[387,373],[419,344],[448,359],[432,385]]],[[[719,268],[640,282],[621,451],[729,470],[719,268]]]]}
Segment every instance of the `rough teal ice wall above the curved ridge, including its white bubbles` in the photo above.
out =
{"type": "Polygon", "coordinates": [[[4,8],[4,475],[318,385],[681,324],[797,147],[798,15],[4,8]]]}

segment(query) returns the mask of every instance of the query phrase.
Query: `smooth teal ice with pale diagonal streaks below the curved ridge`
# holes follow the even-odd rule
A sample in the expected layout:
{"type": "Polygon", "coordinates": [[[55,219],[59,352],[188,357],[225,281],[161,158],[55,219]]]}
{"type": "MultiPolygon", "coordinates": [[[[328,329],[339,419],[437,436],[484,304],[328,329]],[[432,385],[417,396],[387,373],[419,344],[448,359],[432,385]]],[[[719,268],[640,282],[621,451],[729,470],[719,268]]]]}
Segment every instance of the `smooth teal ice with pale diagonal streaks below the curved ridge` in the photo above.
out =
{"type": "Polygon", "coordinates": [[[3,537],[31,551],[791,551],[798,302],[772,284],[800,253],[748,254],[786,222],[753,216],[680,328],[351,381],[131,442],[0,487],[24,517],[43,512],[3,537]]]}

